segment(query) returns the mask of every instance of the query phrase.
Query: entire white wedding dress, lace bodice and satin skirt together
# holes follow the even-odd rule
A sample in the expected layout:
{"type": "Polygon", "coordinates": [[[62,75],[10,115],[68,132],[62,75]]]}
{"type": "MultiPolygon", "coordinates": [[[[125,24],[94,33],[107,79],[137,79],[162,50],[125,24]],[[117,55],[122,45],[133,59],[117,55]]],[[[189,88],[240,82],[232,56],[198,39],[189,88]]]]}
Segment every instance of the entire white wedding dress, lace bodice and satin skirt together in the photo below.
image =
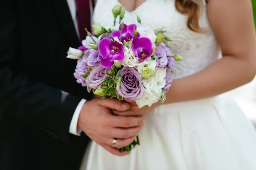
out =
{"type": "MultiPolygon", "coordinates": [[[[98,0],[93,23],[113,26],[111,9],[118,0],[98,0]]],[[[187,17],[175,9],[175,0],[146,0],[124,22],[163,27],[183,62],[173,69],[175,78],[201,71],[221,57],[207,20],[207,4],[200,19],[208,34],[186,27],[187,17]]],[[[95,142],[88,147],[81,170],[256,170],[256,131],[227,94],[158,107],[146,117],[140,146],[124,157],[114,156],[95,142]]],[[[118,140],[117,140],[118,142],[118,140]]]]}

